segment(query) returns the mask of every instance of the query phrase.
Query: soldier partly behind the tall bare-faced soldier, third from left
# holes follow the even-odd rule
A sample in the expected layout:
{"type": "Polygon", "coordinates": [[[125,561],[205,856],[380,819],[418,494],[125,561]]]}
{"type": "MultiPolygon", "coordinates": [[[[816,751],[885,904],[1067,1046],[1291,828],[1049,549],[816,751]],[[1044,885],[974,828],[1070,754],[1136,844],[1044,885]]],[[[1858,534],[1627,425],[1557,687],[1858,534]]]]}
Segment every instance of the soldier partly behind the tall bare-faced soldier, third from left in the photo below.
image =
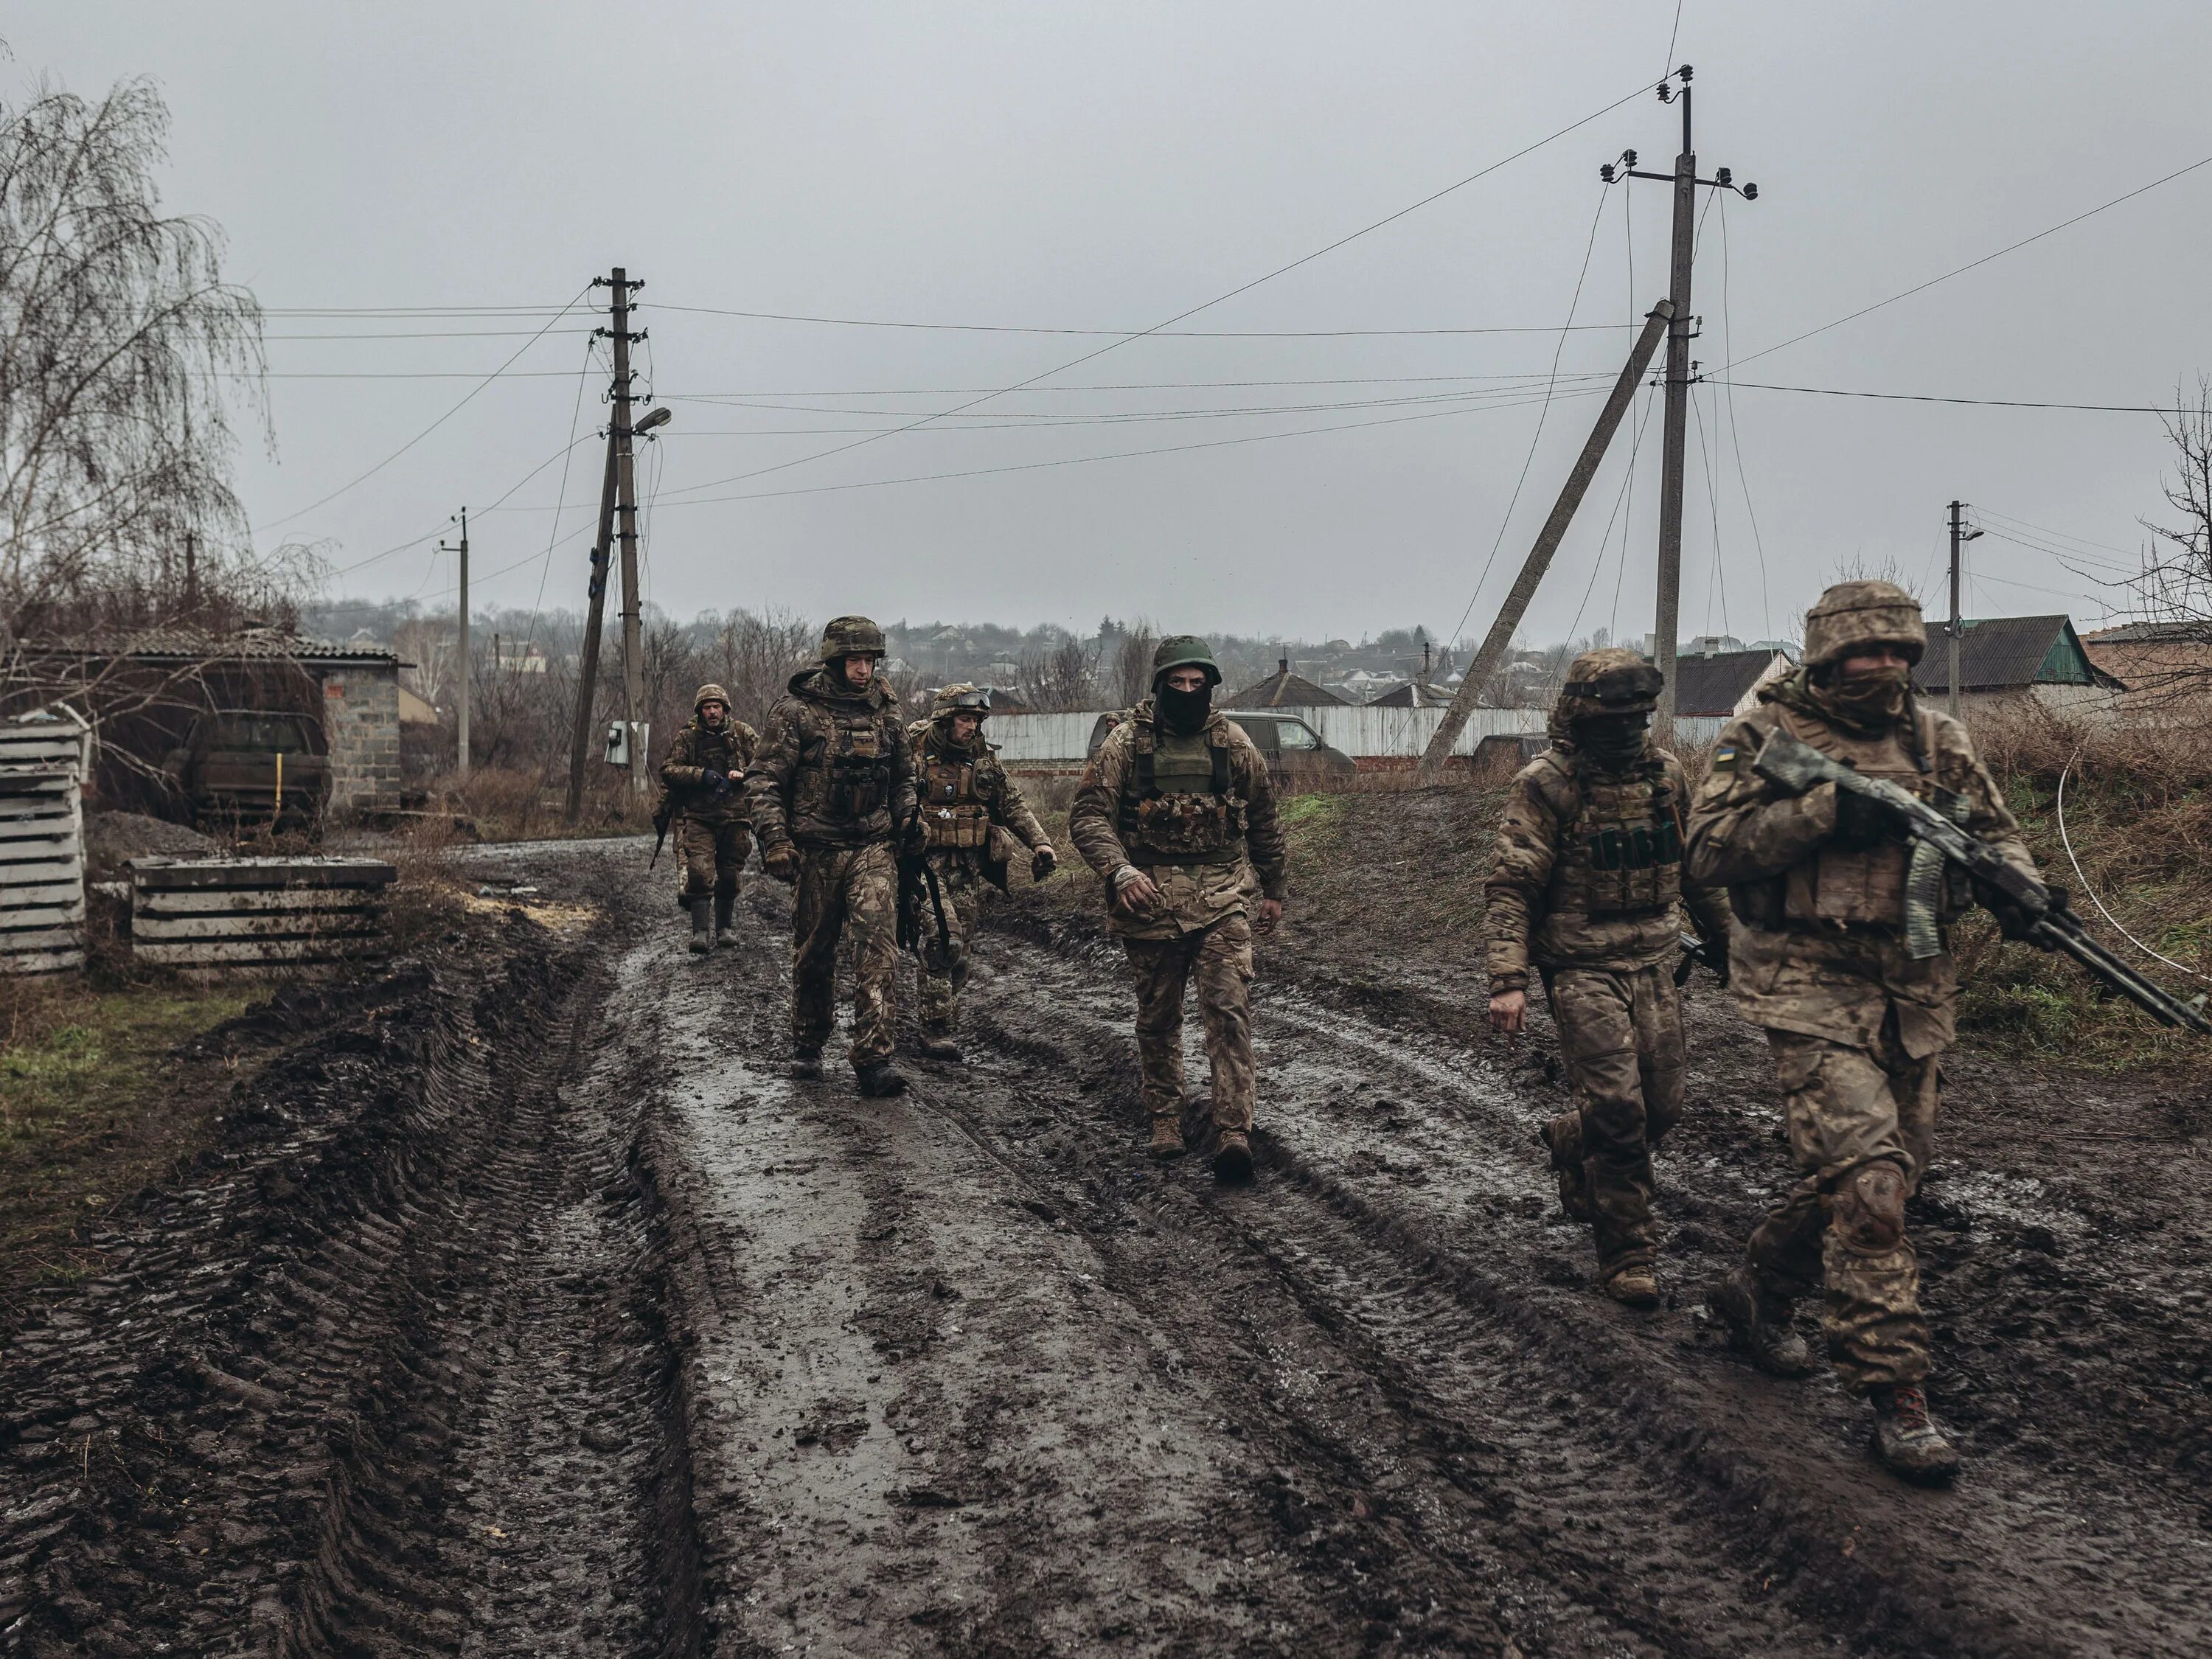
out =
{"type": "MultiPolygon", "coordinates": [[[[982,737],[989,714],[991,699],[975,686],[942,686],[929,719],[907,728],[929,869],[938,878],[936,894],[953,947],[949,973],[927,967],[920,973],[922,1053],[929,1060],[962,1057],[953,1031],[960,1024],[960,987],[967,984],[967,945],[982,909],[982,885],[1006,885],[1009,841],[1029,849],[1031,880],[1044,880],[1060,863],[1037,814],[982,737]]],[[[936,911],[925,902],[922,931],[931,933],[936,925],[936,911]]]]}

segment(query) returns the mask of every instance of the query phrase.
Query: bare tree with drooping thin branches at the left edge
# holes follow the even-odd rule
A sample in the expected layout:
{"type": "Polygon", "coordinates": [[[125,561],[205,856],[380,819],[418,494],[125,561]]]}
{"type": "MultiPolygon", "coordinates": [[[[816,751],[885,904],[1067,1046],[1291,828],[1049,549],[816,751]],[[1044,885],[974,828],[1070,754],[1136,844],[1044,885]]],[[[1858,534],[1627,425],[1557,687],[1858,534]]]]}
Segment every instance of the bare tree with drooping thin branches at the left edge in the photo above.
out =
{"type": "Polygon", "coordinates": [[[161,212],[166,139],[142,80],[0,108],[0,628],[18,639],[299,593],[299,551],[254,557],[230,489],[223,387],[261,409],[261,307],[223,281],[217,226],[161,212]]]}

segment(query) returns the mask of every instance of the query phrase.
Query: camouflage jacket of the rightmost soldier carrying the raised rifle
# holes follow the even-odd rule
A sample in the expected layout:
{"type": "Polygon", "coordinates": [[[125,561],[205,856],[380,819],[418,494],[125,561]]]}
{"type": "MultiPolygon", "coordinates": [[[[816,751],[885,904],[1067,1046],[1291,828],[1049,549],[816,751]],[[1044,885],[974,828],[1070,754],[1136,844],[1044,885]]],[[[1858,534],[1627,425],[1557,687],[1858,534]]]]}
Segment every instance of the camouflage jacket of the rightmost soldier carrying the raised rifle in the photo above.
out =
{"type": "MultiPolygon", "coordinates": [[[[1913,723],[1860,737],[1825,719],[1801,677],[1759,697],[1759,708],[1721,732],[1690,810],[1690,874],[1723,883],[1743,922],[1730,958],[1736,1006],[1772,1031],[1849,1044],[1874,1044],[1896,1015],[1898,1040],[1916,1060],[1947,1048],[1958,1031],[1958,967],[1949,951],[1920,962],[1905,953],[1907,847],[1840,845],[1834,785],[1785,796],[1752,761],[1767,732],[1785,728],[1869,776],[1949,805],[1966,830],[2033,872],[2020,823],[1949,714],[1913,708],[1913,723]]],[[[1947,914],[1966,902],[1971,896],[1949,883],[1947,914]]]]}

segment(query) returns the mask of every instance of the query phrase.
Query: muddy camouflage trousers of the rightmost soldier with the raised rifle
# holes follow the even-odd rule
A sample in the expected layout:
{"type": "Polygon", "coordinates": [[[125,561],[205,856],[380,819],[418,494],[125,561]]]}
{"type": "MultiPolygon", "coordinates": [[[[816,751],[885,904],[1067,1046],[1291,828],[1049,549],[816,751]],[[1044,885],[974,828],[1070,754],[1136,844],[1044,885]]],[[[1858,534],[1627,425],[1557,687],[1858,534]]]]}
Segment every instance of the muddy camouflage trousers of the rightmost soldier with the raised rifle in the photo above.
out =
{"type": "Polygon", "coordinates": [[[1759,1223],[1745,1261],[1781,1305],[1825,1285],[1820,1329],[1847,1387],[1918,1383],[1929,1327],[1905,1199],[1936,1150],[1936,1055],[1905,1053],[1893,1015],[1867,1048],[1772,1029],[1767,1042],[1803,1179],[1759,1223]]]}

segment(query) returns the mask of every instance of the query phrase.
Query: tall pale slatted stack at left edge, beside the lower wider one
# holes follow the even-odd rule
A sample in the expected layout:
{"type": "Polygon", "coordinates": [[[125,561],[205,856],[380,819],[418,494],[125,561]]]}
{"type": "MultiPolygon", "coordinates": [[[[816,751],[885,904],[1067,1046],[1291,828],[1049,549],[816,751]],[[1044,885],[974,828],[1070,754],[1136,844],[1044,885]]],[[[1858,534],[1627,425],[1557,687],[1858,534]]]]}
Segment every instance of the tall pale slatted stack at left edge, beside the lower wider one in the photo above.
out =
{"type": "Polygon", "coordinates": [[[0,723],[0,973],[62,973],[84,967],[84,745],[22,730],[0,723]]]}

